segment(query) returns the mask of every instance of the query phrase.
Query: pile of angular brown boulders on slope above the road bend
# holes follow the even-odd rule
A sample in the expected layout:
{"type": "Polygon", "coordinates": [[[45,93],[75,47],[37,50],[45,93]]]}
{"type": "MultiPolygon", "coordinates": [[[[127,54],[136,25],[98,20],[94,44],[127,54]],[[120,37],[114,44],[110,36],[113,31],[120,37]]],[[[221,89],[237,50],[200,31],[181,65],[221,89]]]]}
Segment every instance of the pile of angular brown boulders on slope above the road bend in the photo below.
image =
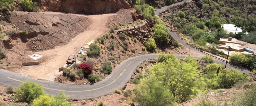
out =
{"type": "Polygon", "coordinates": [[[141,43],[145,44],[145,42],[149,39],[152,38],[150,32],[154,32],[151,28],[148,28],[147,31],[140,30],[139,28],[129,28],[126,30],[121,30],[117,31],[117,35],[124,33],[127,36],[137,38],[141,43]]]}

